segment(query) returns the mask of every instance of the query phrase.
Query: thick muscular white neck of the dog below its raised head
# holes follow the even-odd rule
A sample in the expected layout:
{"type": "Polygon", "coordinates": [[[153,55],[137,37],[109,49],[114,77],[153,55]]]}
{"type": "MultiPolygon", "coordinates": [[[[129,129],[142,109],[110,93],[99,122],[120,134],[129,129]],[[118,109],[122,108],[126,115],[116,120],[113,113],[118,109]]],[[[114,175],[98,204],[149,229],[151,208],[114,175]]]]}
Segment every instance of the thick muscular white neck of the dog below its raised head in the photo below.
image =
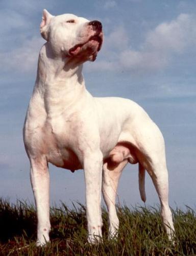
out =
{"type": "MultiPolygon", "coordinates": [[[[44,101],[46,112],[69,106],[85,91],[82,64],[77,59],[55,57],[45,43],[40,51],[34,92],[44,101]]],[[[56,111],[56,110],[55,110],[56,111]]]]}

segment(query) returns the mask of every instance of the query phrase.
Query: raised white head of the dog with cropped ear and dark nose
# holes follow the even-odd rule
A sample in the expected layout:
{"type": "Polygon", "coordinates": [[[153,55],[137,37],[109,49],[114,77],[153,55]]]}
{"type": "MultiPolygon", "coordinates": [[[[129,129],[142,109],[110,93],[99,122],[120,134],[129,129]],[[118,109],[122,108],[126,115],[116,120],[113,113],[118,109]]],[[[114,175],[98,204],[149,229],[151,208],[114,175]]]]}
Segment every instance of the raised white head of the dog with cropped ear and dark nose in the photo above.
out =
{"type": "Polygon", "coordinates": [[[43,10],[40,32],[53,54],[78,58],[81,62],[94,61],[103,42],[100,21],[89,21],[73,14],[53,16],[43,10]]]}

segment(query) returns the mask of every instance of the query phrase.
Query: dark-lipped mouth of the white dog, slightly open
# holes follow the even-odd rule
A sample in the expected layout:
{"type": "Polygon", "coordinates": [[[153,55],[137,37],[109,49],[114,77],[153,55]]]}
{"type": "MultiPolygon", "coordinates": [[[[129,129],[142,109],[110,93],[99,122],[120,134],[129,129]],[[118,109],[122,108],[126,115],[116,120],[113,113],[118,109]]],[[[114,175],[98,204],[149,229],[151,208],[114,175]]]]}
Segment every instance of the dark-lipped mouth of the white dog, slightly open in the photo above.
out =
{"type": "Polygon", "coordinates": [[[91,36],[86,42],[76,44],[69,49],[70,56],[77,56],[81,52],[85,52],[87,55],[93,55],[93,60],[96,58],[97,52],[100,51],[103,42],[103,34],[96,34],[91,36]]]}

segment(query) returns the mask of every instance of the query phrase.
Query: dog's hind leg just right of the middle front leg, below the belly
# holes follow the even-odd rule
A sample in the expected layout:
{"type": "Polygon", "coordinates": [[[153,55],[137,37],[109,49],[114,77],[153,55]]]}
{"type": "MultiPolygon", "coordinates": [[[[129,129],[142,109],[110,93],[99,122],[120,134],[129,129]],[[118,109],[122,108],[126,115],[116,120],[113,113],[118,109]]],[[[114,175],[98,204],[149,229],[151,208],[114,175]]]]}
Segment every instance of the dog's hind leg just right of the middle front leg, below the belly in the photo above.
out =
{"type": "Polygon", "coordinates": [[[115,207],[116,192],[118,180],[127,162],[128,160],[124,159],[119,164],[110,165],[106,162],[103,166],[102,193],[109,214],[109,238],[113,238],[117,235],[119,220],[115,207]]]}

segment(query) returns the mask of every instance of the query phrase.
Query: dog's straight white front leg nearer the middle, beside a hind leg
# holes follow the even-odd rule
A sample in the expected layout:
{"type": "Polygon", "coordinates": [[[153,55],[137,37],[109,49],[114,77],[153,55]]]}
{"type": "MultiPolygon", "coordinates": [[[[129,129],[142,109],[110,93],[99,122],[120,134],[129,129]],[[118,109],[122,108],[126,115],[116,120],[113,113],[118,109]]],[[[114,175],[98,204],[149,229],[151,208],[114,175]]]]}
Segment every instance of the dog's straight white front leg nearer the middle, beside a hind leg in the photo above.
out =
{"type": "Polygon", "coordinates": [[[88,153],[84,158],[86,185],[86,214],[88,242],[100,242],[102,237],[101,184],[103,155],[100,151],[88,153]]]}

